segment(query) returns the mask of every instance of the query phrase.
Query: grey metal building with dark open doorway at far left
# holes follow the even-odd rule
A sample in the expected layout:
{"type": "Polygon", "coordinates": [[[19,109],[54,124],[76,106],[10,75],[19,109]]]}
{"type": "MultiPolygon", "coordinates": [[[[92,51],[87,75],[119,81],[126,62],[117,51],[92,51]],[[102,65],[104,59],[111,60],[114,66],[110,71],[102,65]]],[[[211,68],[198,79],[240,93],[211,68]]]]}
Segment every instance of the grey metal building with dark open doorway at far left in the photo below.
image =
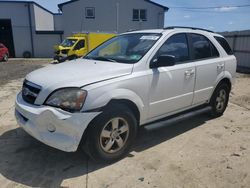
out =
{"type": "Polygon", "coordinates": [[[62,40],[63,31],[57,14],[37,3],[0,1],[0,42],[12,57],[52,57],[53,45],[62,40]]]}

